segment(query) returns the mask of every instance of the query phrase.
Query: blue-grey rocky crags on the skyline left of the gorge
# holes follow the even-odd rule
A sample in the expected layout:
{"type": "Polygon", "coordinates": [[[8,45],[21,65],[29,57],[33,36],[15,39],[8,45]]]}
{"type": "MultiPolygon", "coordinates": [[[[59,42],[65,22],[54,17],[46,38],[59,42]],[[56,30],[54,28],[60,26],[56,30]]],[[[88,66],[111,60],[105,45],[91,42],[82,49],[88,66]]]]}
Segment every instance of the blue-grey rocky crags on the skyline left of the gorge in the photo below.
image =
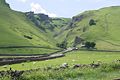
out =
{"type": "Polygon", "coordinates": [[[34,12],[26,12],[26,16],[37,27],[39,27],[41,30],[45,32],[47,29],[50,31],[54,31],[55,27],[58,27],[58,26],[63,27],[67,25],[67,21],[64,21],[61,18],[50,18],[48,15],[42,14],[42,13],[35,14],[34,12]]]}

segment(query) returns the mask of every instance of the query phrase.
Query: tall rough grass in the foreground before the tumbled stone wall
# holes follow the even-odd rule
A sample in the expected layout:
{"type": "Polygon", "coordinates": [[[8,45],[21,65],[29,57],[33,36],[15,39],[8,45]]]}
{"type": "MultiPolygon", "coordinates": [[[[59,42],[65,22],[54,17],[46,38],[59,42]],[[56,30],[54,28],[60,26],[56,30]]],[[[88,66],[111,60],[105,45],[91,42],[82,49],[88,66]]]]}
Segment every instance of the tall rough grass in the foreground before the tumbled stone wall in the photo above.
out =
{"type": "MultiPolygon", "coordinates": [[[[120,62],[103,63],[98,68],[40,68],[25,72],[18,80],[114,80],[120,78],[120,62]]],[[[0,80],[10,80],[4,77],[0,80]]]]}

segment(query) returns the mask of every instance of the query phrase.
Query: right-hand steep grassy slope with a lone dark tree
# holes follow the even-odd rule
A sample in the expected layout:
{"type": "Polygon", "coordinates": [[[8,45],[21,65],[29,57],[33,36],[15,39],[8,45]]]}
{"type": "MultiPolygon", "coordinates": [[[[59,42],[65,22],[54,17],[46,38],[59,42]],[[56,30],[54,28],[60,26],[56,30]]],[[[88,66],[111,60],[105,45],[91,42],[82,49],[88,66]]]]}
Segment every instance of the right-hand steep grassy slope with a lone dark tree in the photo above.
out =
{"type": "MultiPolygon", "coordinates": [[[[85,11],[74,16],[71,24],[61,35],[66,35],[68,46],[72,46],[76,36],[85,41],[94,41],[99,49],[120,49],[120,6],[85,11]],[[89,25],[93,19],[96,25],[89,25]],[[67,33],[67,34],[66,34],[67,33]]],[[[56,37],[61,38],[61,35],[56,37]]],[[[63,36],[62,36],[63,37],[63,36]]]]}

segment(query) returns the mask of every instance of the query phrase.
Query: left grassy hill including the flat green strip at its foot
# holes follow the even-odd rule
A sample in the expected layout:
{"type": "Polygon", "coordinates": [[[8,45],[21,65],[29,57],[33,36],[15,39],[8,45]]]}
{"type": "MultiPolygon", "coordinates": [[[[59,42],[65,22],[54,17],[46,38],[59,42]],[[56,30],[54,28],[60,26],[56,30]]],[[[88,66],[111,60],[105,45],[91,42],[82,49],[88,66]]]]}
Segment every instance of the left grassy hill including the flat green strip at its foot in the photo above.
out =
{"type": "Polygon", "coordinates": [[[55,52],[55,41],[30,21],[26,13],[10,9],[5,0],[0,0],[0,47],[40,46],[41,48],[0,48],[0,53],[35,53],[55,52]],[[44,49],[45,48],[45,49],[44,49]],[[47,49],[48,48],[48,49],[47,49]],[[49,49],[50,48],[50,49],[49,49]]]}

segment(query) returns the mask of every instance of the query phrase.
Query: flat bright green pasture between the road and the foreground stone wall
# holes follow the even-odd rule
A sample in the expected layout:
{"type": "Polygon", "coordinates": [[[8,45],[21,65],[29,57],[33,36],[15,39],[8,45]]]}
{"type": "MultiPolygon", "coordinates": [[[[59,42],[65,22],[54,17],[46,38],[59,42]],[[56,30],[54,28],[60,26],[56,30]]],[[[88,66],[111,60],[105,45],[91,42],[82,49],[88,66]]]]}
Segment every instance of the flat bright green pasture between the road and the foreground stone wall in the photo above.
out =
{"type": "Polygon", "coordinates": [[[21,64],[8,65],[7,68],[3,66],[0,67],[0,70],[6,70],[12,67],[15,70],[29,70],[36,68],[43,68],[49,66],[59,66],[62,63],[68,63],[70,66],[74,64],[90,64],[93,61],[96,63],[101,61],[103,63],[111,63],[114,60],[120,59],[119,52],[92,52],[92,51],[75,51],[67,53],[63,58],[57,58],[46,61],[36,61],[36,62],[25,62],[21,64]],[[24,64],[24,66],[22,66],[24,64]]]}

